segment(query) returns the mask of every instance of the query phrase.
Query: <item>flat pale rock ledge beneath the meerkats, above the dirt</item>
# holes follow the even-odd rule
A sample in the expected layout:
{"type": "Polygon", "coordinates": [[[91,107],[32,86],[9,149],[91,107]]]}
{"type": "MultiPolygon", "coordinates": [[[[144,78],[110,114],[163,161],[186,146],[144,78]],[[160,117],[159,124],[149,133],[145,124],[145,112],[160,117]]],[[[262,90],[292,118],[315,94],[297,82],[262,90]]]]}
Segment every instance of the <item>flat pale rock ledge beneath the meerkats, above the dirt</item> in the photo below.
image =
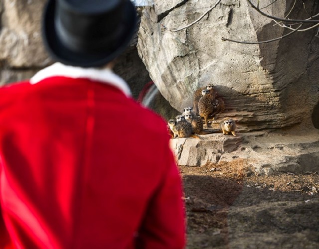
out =
{"type": "MultiPolygon", "coordinates": [[[[203,166],[206,163],[243,159],[257,175],[274,172],[305,173],[319,171],[319,132],[307,134],[268,131],[214,133],[194,138],[171,139],[177,164],[203,166]]],[[[217,164],[218,165],[218,164],[217,164]]]]}

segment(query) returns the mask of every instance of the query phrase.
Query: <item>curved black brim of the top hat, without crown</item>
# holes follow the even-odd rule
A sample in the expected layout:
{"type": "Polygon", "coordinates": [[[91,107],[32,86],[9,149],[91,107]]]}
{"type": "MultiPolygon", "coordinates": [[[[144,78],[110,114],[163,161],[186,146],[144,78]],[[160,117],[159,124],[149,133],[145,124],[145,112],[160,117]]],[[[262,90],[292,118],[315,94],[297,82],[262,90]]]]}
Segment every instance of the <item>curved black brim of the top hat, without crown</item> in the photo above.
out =
{"type": "Polygon", "coordinates": [[[57,35],[56,27],[54,25],[55,16],[55,1],[49,0],[43,14],[42,37],[44,45],[53,57],[54,60],[66,65],[78,67],[101,67],[114,60],[119,56],[129,45],[133,35],[136,31],[137,14],[135,6],[130,0],[126,0],[127,20],[124,32],[125,37],[121,37],[118,41],[118,46],[110,52],[101,52],[96,54],[74,52],[63,45],[59,36],[57,35]]]}

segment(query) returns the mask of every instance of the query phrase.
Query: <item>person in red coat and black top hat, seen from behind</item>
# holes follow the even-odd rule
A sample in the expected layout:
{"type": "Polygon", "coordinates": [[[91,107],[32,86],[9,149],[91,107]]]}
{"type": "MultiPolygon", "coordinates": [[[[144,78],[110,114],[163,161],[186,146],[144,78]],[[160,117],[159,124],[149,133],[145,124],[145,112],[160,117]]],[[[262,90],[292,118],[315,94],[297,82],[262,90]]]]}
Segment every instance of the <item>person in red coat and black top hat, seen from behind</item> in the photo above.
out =
{"type": "Polygon", "coordinates": [[[166,124],[111,70],[136,18],[130,0],[48,1],[58,62],[0,89],[0,248],[185,247],[166,124]]]}

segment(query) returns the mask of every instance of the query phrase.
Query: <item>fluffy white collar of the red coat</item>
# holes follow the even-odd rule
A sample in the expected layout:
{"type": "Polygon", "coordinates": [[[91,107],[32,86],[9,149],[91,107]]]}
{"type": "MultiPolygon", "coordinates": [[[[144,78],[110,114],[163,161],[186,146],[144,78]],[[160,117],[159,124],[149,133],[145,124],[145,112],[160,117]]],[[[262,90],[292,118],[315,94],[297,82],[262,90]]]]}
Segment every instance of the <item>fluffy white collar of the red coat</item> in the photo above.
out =
{"type": "Polygon", "coordinates": [[[56,62],[37,72],[31,79],[30,83],[35,84],[45,78],[53,76],[64,76],[69,78],[86,78],[96,80],[119,88],[126,96],[131,96],[131,90],[128,84],[111,69],[95,69],[67,66],[56,62]]]}

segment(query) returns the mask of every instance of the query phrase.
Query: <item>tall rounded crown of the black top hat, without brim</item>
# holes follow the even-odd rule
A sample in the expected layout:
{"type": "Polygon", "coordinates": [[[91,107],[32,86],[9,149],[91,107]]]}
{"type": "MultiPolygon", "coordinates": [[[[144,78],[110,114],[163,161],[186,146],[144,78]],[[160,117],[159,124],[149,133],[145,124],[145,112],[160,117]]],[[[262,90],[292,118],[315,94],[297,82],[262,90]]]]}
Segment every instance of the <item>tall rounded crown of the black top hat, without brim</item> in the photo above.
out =
{"type": "Polygon", "coordinates": [[[123,0],[58,0],[55,25],[73,51],[112,50],[125,30],[123,0]],[[98,7],[98,8],[97,8],[98,7]]]}

